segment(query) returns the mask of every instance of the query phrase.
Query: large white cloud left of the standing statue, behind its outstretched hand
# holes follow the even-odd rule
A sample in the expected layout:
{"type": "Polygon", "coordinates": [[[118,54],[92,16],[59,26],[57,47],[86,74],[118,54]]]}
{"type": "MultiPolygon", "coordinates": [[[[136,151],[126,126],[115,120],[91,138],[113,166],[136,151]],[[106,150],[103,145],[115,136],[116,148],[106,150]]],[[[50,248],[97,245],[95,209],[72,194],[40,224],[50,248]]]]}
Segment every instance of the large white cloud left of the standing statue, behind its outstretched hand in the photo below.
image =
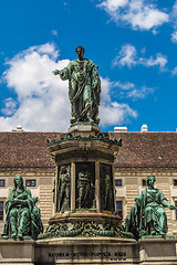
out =
{"type": "MultiPolygon", "coordinates": [[[[7,86],[18,96],[19,107],[10,117],[0,117],[0,130],[21,125],[25,130],[65,130],[70,121],[67,82],[52,74],[70,61],[55,62],[53,44],[32,46],[14,56],[4,73],[7,86]]],[[[9,112],[9,106],[4,109],[9,112]]]]}

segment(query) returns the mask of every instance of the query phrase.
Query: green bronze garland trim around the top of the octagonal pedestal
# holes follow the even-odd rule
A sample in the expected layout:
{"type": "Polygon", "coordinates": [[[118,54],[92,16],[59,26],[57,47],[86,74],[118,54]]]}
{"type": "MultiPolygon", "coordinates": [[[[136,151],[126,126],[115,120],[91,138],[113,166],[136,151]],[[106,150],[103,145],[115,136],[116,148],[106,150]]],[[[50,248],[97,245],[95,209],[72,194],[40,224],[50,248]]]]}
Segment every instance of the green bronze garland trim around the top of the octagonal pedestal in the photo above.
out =
{"type": "Polygon", "coordinates": [[[122,139],[111,139],[108,136],[104,136],[103,134],[98,132],[96,136],[88,136],[88,137],[82,137],[82,136],[73,136],[72,134],[62,135],[60,139],[46,139],[48,147],[64,142],[64,141],[104,141],[111,145],[117,145],[122,146],[122,139]]]}

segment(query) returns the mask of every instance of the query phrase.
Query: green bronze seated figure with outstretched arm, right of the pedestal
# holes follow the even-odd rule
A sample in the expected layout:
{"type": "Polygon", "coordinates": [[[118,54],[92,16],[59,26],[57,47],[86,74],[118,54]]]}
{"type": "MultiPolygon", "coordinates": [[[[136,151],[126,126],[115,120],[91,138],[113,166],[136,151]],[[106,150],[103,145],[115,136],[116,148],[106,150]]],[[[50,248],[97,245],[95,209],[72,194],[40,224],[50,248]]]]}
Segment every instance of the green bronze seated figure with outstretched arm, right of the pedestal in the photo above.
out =
{"type": "Polygon", "coordinates": [[[164,197],[163,191],[154,187],[155,181],[154,176],[147,177],[148,188],[135,198],[135,205],[125,219],[126,232],[132,232],[137,240],[145,236],[165,236],[168,225],[164,208],[176,210],[164,197]]]}

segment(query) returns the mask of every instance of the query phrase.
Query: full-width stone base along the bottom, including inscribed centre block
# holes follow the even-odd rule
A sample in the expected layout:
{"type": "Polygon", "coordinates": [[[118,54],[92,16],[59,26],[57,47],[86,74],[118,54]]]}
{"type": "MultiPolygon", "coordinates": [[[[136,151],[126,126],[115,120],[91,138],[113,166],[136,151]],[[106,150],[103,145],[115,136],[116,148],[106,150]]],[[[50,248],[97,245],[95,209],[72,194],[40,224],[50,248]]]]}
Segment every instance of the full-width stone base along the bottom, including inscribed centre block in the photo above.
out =
{"type": "Polygon", "coordinates": [[[0,240],[0,265],[177,265],[175,239],[0,240]]]}

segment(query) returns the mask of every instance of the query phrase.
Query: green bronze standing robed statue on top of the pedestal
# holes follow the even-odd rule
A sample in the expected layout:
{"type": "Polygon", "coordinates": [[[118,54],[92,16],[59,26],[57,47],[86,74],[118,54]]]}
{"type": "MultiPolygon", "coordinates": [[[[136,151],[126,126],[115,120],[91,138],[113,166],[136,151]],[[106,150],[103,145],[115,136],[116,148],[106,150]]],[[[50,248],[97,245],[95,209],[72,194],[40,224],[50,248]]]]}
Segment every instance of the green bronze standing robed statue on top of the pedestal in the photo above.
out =
{"type": "Polygon", "coordinates": [[[69,97],[72,105],[71,124],[86,123],[98,125],[98,105],[101,93],[101,80],[97,68],[91,60],[84,59],[84,47],[77,46],[79,59],[59,71],[53,71],[54,75],[60,75],[61,80],[69,80],[69,97]]]}

